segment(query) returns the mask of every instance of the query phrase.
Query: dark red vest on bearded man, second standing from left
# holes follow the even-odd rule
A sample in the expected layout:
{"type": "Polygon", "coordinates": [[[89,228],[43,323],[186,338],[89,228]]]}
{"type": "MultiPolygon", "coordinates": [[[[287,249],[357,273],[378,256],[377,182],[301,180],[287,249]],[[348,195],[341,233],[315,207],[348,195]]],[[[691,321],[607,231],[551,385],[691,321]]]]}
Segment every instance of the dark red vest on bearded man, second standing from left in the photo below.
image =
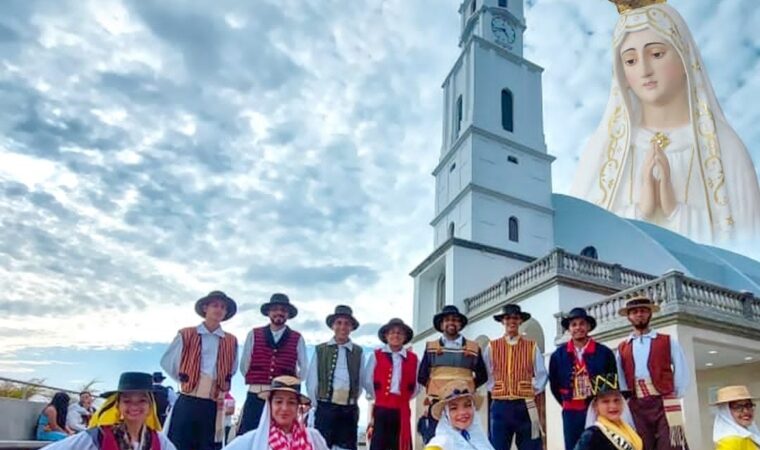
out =
{"type": "Polygon", "coordinates": [[[296,376],[300,339],[301,335],[297,331],[285,328],[275,344],[269,325],[254,328],[251,364],[245,373],[245,383],[268,385],[272,378],[281,375],[296,376]]]}

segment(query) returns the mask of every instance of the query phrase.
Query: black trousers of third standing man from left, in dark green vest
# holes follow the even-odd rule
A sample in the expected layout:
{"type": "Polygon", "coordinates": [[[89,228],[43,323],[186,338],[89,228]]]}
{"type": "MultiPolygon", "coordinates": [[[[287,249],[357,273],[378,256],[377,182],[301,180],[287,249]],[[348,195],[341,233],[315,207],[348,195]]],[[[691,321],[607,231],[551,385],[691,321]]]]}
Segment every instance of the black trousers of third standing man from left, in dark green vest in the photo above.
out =
{"type": "Polygon", "coordinates": [[[358,426],[358,406],[317,402],[314,428],[325,438],[328,447],[337,445],[348,450],[356,450],[358,426]]]}

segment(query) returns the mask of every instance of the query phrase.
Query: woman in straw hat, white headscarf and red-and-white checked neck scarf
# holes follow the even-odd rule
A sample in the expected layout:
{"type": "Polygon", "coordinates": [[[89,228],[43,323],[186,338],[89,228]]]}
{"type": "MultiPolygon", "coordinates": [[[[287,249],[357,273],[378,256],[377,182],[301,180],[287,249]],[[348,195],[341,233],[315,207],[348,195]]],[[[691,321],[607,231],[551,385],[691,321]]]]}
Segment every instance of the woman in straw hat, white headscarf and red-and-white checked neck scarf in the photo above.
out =
{"type": "Polygon", "coordinates": [[[283,375],[258,394],[266,401],[258,428],[241,434],[225,450],[328,450],[319,431],[301,422],[300,410],[311,403],[301,394],[301,381],[283,375]]]}

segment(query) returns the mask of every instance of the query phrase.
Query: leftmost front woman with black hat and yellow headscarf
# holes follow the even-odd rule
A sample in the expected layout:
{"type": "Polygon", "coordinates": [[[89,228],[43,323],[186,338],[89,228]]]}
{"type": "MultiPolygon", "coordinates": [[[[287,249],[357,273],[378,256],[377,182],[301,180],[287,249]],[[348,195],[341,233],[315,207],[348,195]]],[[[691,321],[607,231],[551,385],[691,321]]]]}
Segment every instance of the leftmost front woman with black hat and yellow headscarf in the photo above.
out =
{"type": "Polygon", "coordinates": [[[161,431],[149,373],[125,372],[116,391],[106,392],[90,428],[46,450],[176,450],[161,431]]]}

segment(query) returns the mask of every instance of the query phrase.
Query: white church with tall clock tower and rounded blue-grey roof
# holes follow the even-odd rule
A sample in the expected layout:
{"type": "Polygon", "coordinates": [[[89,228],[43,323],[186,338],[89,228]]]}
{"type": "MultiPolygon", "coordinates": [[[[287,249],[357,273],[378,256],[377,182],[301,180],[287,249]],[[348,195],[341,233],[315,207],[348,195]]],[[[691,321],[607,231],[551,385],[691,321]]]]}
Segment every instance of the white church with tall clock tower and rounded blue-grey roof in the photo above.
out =
{"type": "MultiPolygon", "coordinates": [[[[685,352],[689,445],[712,448],[714,392],[730,384],[760,392],[760,263],[553,194],[542,69],[522,56],[523,2],[465,0],[459,12],[461,52],[443,83],[433,171],[434,250],[411,273],[415,351],[436,336],[432,317],[444,305],[469,317],[463,334],[483,345],[504,332],[493,314],[519,303],[533,316],[523,334],[548,366],[563,341],[562,312],[587,308],[599,323],[594,337],[614,348],[630,334],[618,309],[645,293],[662,308],[653,328],[685,352]]],[[[561,409],[551,395],[545,402],[546,448],[559,450],[561,409]]]]}

